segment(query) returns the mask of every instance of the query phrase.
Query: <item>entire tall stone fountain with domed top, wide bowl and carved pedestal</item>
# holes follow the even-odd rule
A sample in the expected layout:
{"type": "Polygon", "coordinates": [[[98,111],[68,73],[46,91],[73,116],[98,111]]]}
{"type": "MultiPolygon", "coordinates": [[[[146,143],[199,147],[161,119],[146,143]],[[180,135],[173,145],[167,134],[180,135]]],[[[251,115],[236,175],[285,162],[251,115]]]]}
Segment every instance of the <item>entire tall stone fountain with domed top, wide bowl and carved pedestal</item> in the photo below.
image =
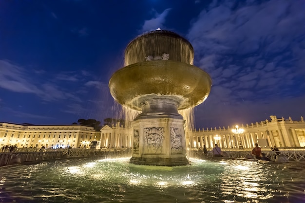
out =
{"type": "Polygon", "coordinates": [[[156,30],[131,41],[125,67],[113,74],[109,88],[121,105],[142,111],[132,123],[133,156],[130,163],[185,166],[185,110],[209,95],[209,74],[193,66],[191,43],[179,35],[156,30]]]}

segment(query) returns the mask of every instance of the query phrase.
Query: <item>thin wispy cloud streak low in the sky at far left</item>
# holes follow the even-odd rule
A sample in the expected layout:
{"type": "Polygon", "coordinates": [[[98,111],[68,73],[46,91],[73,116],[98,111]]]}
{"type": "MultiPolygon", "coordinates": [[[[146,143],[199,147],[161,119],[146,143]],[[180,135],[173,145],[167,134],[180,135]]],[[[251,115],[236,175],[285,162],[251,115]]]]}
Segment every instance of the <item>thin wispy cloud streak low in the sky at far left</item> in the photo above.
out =
{"type": "Polygon", "coordinates": [[[76,72],[62,72],[52,75],[45,71],[32,71],[12,62],[0,60],[0,88],[10,92],[35,94],[47,102],[67,99],[81,102],[77,91],[84,88],[84,86],[78,87],[82,83],[86,84],[86,77],[76,72]],[[41,79],[45,78],[44,75],[48,75],[48,80],[41,79]]]}

